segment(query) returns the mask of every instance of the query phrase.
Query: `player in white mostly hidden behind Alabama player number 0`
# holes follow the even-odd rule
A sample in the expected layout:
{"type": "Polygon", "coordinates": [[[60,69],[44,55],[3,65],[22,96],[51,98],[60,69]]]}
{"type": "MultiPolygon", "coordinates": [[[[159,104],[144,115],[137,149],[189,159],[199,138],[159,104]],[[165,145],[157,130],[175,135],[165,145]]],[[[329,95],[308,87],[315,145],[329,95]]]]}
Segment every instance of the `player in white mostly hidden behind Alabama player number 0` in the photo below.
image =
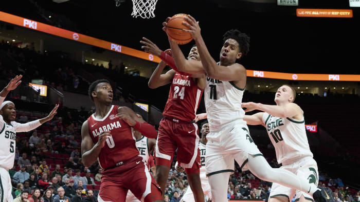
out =
{"type": "MultiPolygon", "coordinates": [[[[142,116],[140,114],[136,113],[136,115],[139,118],[142,118],[142,116]]],[[[135,144],[136,144],[136,148],[139,150],[139,156],[142,157],[142,161],[144,161],[146,163],[146,165],[149,167],[150,166],[149,165],[149,157],[150,157],[150,154],[154,151],[156,139],[151,139],[151,138],[145,137],[136,129],[132,128],[132,131],[136,138],[135,144]]],[[[128,191],[128,194],[126,196],[126,201],[127,202],[140,202],[140,200],[137,199],[130,190],[128,191]]]]}

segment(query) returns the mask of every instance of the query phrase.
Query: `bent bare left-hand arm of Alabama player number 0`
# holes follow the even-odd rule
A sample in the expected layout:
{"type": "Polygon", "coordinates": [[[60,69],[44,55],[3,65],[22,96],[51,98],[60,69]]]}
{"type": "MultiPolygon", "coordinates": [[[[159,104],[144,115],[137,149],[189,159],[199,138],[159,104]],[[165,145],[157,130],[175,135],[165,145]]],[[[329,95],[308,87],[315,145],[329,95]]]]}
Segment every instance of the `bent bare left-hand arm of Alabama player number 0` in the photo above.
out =
{"type": "Polygon", "coordinates": [[[84,166],[90,167],[98,158],[105,141],[111,136],[110,131],[104,131],[99,135],[98,142],[94,145],[90,136],[87,120],[81,127],[81,158],[84,166]]]}

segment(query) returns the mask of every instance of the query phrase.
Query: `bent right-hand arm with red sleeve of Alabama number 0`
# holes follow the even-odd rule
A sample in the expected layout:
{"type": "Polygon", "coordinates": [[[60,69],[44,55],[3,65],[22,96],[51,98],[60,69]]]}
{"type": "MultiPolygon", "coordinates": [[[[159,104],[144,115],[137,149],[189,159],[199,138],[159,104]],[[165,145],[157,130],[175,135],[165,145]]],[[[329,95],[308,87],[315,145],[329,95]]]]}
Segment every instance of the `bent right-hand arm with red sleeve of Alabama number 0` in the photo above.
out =
{"type": "Polygon", "coordinates": [[[117,118],[121,118],[124,122],[128,123],[129,126],[139,131],[143,136],[148,138],[156,138],[157,131],[153,126],[146,123],[141,117],[138,117],[136,113],[129,107],[119,107],[117,118]]]}

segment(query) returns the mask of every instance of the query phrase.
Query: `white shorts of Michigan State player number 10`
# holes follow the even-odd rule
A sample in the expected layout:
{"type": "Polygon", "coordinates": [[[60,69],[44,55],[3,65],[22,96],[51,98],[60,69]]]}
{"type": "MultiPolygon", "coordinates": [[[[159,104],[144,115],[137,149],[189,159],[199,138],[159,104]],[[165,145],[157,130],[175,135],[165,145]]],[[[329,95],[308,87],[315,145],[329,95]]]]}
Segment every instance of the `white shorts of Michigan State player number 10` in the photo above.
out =
{"type": "MultiPolygon", "coordinates": [[[[317,186],[319,182],[317,164],[312,157],[301,158],[292,164],[283,165],[280,168],[288,170],[301,178],[309,180],[310,184],[314,183],[317,186]]],[[[305,199],[314,200],[313,197],[306,192],[285,187],[276,183],[273,183],[273,186],[271,187],[270,198],[275,196],[285,196],[289,199],[289,201],[291,201],[295,194],[295,201],[299,200],[301,195],[304,195],[305,199]]]]}

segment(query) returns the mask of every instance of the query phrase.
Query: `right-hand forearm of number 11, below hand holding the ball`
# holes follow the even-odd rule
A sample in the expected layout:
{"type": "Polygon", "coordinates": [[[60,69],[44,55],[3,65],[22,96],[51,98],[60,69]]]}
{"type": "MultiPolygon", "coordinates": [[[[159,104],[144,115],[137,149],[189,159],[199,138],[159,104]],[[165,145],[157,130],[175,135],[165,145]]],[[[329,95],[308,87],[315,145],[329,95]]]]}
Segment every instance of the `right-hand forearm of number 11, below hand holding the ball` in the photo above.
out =
{"type": "Polygon", "coordinates": [[[213,77],[217,74],[218,64],[211,57],[203,37],[199,37],[195,41],[197,50],[199,50],[201,63],[203,64],[204,70],[209,77],[213,77]]]}

